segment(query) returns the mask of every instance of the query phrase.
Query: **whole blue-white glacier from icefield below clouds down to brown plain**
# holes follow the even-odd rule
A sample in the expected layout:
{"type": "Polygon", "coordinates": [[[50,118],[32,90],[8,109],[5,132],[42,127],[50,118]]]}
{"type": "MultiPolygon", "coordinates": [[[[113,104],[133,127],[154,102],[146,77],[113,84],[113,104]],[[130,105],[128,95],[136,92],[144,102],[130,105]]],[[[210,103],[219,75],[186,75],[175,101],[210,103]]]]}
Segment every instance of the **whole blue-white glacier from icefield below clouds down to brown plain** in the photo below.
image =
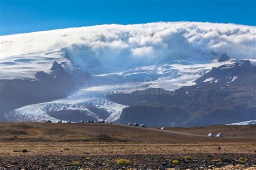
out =
{"type": "MultiPolygon", "coordinates": [[[[32,104],[6,114],[9,121],[42,121],[58,119],[50,117],[58,111],[76,111],[94,119],[117,121],[126,105],[112,102],[107,98],[111,93],[130,93],[134,90],[144,90],[149,87],[161,87],[166,90],[175,90],[181,86],[195,84],[193,81],[203,75],[212,67],[231,64],[233,61],[211,62],[197,65],[157,65],[136,67],[124,72],[100,74],[92,77],[90,84],[79,88],[70,96],[47,103],[32,104]],[[106,117],[99,116],[97,108],[107,111],[106,117]]],[[[66,120],[67,121],[67,120],[66,120]]]]}

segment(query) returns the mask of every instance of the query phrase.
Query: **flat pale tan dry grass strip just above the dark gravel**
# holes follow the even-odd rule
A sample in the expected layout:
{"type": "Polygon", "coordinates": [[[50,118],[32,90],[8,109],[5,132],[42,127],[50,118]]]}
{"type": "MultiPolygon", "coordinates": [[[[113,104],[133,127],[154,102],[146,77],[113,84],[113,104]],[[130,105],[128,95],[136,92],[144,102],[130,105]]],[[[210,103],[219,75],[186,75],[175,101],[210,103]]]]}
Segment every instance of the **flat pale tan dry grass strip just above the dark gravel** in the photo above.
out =
{"type": "MultiPolygon", "coordinates": [[[[245,147],[244,143],[199,143],[199,144],[133,144],[133,143],[17,143],[0,142],[0,154],[12,155],[36,155],[36,154],[62,154],[62,155],[117,155],[117,154],[170,154],[181,153],[253,153],[255,146],[245,147]],[[215,146],[211,148],[211,146],[215,146]],[[225,150],[216,150],[217,146],[225,150]],[[161,150],[159,150],[159,147],[161,150]],[[26,148],[28,153],[20,152],[26,148]],[[185,149],[185,150],[184,150],[185,149]],[[17,151],[17,152],[14,152],[17,151]]],[[[89,156],[90,157],[90,156],[89,156]]]]}

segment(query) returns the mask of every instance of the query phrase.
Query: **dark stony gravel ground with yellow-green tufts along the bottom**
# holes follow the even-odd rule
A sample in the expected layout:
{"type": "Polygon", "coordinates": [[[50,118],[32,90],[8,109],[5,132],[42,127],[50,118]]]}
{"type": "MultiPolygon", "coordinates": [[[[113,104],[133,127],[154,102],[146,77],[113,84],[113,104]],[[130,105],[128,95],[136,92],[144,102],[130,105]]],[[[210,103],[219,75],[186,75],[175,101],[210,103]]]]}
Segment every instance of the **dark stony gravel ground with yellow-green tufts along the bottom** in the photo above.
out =
{"type": "Polygon", "coordinates": [[[0,157],[0,169],[256,168],[256,154],[21,155],[0,157]],[[130,160],[117,164],[119,158],[130,160]],[[177,164],[173,164],[173,160],[177,164]]]}

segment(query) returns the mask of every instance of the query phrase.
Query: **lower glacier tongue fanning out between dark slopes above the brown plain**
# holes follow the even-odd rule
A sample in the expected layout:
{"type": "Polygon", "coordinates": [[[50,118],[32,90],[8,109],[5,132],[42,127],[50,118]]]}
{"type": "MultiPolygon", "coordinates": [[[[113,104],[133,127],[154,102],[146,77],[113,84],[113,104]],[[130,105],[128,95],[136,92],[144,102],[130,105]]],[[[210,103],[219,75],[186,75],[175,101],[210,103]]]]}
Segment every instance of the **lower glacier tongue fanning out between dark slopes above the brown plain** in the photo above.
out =
{"type": "Polygon", "coordinates": [[[5,117],[9,121],[14,122],[44,122],[46,120],[57,122],[58,119],[51,117],[48,114],[60,110],[77,110],[83,111],[84,114],[94,117],[99,121],[103,120],[103,118],[99,117],[95,112],[87,108],[93,106],[109,112],[109,117],[106,119],[107,121],[116,121],[119,118],[122,109],[127,106],[107,100],[107,91],[103,91],[102,88],[104,89],[104,87],[82,88],[60,100],[32,104],[12,110],[8,112],[5,117]]]}

